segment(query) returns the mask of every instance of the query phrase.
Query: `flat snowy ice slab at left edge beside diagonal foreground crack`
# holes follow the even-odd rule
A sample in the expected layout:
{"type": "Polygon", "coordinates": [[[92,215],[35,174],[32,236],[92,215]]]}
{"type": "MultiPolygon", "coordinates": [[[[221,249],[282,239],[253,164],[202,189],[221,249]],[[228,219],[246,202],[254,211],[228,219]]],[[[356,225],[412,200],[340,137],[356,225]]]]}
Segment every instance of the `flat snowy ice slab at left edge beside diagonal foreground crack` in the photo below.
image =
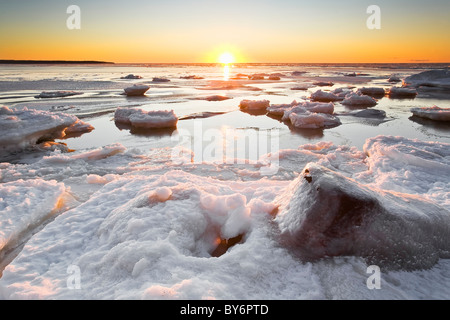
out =
{"type": "Polygon", "coordinates": [[[0,276],[7,257],[64,207],[64,184],[42,179],[0,184],[0,276]]]}

